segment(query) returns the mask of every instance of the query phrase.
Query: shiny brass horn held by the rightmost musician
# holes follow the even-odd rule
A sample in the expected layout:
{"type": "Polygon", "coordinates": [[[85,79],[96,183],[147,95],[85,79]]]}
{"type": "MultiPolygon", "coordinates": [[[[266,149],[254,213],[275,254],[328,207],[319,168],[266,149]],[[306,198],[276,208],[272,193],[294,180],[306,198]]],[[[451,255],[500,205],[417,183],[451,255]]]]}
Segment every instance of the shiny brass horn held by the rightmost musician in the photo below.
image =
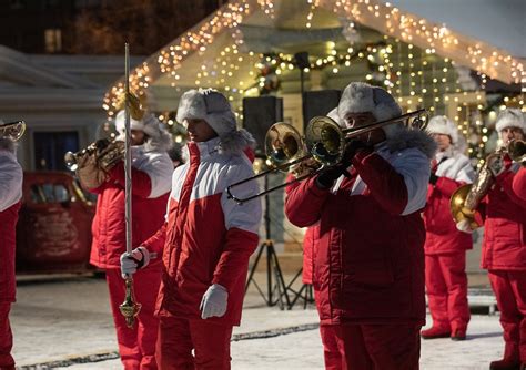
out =
{"type": "Polygon", "coordinates": [[[464,223],[471,230],[483,225],[477,207],[495,183],[495,175],[492,173],[490,166],[503,167],[502,162],[506,154],[514,162],[520,163],[523,166],[526,165],[524,141],[510,141],[507,146],[489,154],[473,184],[461,186],[449,199],[449,210],[456,224],[464,223]]]}

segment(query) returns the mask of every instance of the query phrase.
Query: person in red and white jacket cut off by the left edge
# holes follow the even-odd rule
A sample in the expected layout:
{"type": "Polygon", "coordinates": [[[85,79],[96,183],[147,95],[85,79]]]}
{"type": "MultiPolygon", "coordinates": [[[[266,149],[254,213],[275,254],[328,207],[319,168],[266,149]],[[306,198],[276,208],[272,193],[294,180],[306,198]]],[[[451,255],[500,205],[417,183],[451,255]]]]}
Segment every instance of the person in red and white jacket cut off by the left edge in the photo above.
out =
{"type": "MultiPolygon", "coordinates": [[[[3,121],[0,120],[0,124],[3,121]]],[[[9,312],[14,302],[16,226],[22,198],[22,167],[17,162],[17,145],[0,134],[0,369],[14,370],[11,356],[13,336],[9,312]]]]}

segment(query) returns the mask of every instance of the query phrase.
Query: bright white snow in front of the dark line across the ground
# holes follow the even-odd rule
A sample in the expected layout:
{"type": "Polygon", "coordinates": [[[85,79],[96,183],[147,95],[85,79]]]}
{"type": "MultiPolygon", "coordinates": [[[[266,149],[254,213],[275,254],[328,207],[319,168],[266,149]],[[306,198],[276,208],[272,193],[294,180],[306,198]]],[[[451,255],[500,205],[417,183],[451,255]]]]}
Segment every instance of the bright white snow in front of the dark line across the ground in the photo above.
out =
{"type": "MultiPolygon", "coordinates": [[[[422,341],[423,370],[482,370],[500,358],[502,336],[496,316],[474,316],[468,338],[454,342],[447,338],[422,341]]],[[[118,359],[74,364],[62,370],[118,370],[118,359]]],[[[267,339],[232,342],[233,370],[323,369],[318,331],[307,330],[267,339]]]]}

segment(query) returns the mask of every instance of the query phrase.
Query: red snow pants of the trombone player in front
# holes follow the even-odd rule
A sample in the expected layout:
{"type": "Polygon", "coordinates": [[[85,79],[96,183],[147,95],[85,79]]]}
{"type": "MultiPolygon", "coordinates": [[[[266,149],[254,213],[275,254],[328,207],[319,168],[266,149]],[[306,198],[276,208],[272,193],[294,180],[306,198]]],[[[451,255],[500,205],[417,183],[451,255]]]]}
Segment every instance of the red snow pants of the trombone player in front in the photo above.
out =
{"type": "MultiPolygon", "coordinates": [[[[327,325],[322,338],[332,336],[343,370],[417,370],[421,325],[327,325]]],[[[327,368],[328,369],[328,368],[327,368]]]]}

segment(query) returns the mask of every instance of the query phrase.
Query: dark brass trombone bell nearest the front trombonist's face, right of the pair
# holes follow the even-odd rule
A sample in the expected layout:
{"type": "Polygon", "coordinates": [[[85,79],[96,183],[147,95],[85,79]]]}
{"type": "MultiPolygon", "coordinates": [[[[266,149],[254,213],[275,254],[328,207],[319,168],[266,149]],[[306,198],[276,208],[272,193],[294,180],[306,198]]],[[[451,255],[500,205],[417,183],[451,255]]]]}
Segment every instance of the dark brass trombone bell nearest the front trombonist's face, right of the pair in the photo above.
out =
{"type": "Polygon", "coordinates": [[[332,166],[342,160],[345,152],[345,135],[334,120],[316,116],[306,127],[305,145],[317,162],[332,166]]]}

